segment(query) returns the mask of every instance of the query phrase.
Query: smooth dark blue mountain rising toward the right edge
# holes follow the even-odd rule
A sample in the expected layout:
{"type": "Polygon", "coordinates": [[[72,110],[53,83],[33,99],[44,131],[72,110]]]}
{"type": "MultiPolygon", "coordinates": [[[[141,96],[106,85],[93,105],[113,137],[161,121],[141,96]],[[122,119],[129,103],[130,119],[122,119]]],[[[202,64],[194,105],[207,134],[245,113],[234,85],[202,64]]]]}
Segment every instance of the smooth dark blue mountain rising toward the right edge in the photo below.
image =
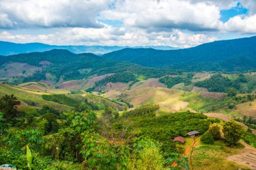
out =
{"type": "Polygon", "coordinates": [[[256,69],[256,36],[222,40],[179,50],[125,48],[104,58],[147,67],[170,67],[185,71],[244,71],[256,69]]]}

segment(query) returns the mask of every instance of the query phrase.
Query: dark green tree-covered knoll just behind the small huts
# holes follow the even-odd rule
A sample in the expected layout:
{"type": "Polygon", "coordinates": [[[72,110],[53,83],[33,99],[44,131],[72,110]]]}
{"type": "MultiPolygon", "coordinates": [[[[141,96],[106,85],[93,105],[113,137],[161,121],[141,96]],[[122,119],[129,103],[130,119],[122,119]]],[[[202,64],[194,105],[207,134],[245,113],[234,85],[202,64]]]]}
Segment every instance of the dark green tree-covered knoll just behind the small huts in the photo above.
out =
{"type": "MultiPolygon", "coordinates": [[[[136,112],[139,112],[139,110],[136,112]]],[[[127,117],[125,114],[117,120],[115,127],[121,131],[122,128],[119,129],[119,127],[124,122],[126,126],[131,124],[128,126],[130,130],[125,136],[129,138],[130,135],[136,135],[137,138],[152,138],[160,142],[162,144],[160,151],[162,151],[165,158],[170,157],[171,153],[177,152],[176,144],[171,140],[172,138],[176,136],[187,136],[187,132],[193,130],[197,130],[203,134],[210,125],[206,116],[190,112],[159,117],[151,114],[147,117],[141,117],[139,115],[141,114],[127,117]]]]}

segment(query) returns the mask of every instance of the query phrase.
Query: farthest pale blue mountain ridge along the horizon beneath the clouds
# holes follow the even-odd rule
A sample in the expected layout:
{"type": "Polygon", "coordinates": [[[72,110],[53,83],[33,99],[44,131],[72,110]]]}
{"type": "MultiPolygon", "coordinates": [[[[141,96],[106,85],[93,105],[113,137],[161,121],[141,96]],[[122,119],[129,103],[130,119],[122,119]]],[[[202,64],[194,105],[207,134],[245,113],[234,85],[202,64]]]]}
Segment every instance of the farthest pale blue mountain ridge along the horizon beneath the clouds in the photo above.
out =
{"type": "Polygon", "coordinates": [[[0,55],[12,55],[12,54],[22,54],[28,52],[44,52],[53,49],[65,49],[73,53],[79,54],[83,52],[90,52],[94,54],[105,54],[108,52],[113,52],[115,50],[121,50],[123,48],[155,48],[158,50],[174,50],[177,48],[172,48],[170,46],[55,46],[49,44],[42,44],[38,42],[27,43],[27,44],[17,44],[13,42],[3,42],[0,41],[0,55]]]}

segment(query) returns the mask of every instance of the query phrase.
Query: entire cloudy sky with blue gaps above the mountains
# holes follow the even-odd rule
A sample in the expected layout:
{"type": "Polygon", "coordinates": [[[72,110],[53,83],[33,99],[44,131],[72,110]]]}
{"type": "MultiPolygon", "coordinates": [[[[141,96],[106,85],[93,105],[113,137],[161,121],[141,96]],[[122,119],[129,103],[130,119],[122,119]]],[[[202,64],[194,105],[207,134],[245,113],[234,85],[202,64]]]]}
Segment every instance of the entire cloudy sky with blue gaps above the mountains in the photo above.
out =
{"type": "Polygon", "coordinates": [[[186,48],[255,35],[255,0],[0,0],[8,42],[186,48]]]}

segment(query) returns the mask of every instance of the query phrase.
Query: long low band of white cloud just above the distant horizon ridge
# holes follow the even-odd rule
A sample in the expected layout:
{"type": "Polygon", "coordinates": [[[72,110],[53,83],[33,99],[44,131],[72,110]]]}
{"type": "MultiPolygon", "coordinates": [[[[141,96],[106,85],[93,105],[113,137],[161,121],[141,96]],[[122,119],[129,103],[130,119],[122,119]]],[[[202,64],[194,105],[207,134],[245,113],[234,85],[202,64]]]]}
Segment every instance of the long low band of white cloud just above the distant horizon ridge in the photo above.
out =
{"type": "Polygon", "coordinates": [[[54,34],[10,34],[2,32],[0,39],[10,42],[42,42],[46,44],[84,44],[84,45],[104,45],[104,46],[174,46],[187,48],[197,46],[205,42],[217,40],[205,34],[185,33],[179,30],[172,32],[146,32],[139,28],[63,28],[54,34]],[[113,34],[115,32],[115,34],[113,34]],[[117,34],[117,32],[119,32],[117,34]]]}

